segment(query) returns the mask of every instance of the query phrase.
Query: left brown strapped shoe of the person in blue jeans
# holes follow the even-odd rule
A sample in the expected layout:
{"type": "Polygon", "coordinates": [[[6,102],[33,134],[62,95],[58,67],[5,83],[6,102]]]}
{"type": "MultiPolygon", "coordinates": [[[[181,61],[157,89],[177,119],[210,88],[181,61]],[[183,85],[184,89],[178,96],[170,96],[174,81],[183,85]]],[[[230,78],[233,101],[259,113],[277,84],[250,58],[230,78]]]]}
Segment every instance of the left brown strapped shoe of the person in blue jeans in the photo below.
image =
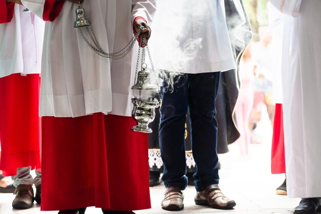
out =
{"type": "Polygon", "coordinates": [[[168,187],[164,193],[162,208],[169,211],[178,211],[184,209],[184,195],[177,186],[168,187]]]}

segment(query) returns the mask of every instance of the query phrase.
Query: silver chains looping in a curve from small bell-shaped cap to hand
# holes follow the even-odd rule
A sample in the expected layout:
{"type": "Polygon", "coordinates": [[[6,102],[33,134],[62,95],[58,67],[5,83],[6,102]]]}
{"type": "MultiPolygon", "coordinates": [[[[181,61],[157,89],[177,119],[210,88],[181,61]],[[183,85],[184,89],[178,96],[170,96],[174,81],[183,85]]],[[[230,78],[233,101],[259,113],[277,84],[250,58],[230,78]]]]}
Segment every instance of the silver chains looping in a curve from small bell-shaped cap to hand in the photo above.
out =
{"type": "Polygon", "coordinates": [[[90,43],[90,41],[86,38],[86,36],[84,35],[83,31],[81,28],[78,28],[79,32],[81,33],[81,35],[83,36],[84,40],[86,41],[87,45],[90,47],[90,49],[92,51],[94,51],[96,54],[98,54],[99,56],[102,57],[106,57],[106,58],[111,58],[111,59],[121,59],[123,57],[125,57],[134,47],[135,42],[139,36],[139,34],[141,34],[142,30],[144,29],[144,26],[139,26],[136,34],[132,37],[132,39],[128,42],[128,44],[120,51],[117,51],[115,53],[106,53],[105,51],[102,50],[101,46],[99,45],[98,40],[96,39],[96,36],[93,32],[93,28],[92,27],[86,27],[87,32],[91,38],[91,40],[93,41],[92,45],[90,43]]]}

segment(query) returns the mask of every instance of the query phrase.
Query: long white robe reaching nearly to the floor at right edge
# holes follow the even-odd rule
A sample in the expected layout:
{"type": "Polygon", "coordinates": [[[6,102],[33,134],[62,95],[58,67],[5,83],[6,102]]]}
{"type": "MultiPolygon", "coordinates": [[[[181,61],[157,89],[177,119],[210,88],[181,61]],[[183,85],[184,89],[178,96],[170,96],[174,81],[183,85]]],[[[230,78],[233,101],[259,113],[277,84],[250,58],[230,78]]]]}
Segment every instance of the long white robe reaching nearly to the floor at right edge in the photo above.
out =
{"type": "MultiPolygon", "coordinates": [[[[300,5],[284,16],[288,46],[283,44],[283,112],[287,190],[290,198],[321,196],[321,2],[300,5]],[[315,23],[315,25],[313,25],[315,23]]],[[[273,3],[271,1],[271,3],[273,3]]],[[[280,10],[278,4],[274,6],[280,10]]],[[[281,11],[281,10],[280,10],[281,11]]]]}

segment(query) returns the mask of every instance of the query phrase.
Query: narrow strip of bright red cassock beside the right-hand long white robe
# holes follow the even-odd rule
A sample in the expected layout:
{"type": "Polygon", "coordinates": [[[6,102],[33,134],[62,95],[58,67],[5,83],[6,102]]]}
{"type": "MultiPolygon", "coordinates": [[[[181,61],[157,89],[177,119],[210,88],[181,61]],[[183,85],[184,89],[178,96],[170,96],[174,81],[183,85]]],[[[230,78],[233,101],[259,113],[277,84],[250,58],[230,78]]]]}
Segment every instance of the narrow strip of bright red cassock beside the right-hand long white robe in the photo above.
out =
{"type": "Polygon", "coordinates": [[[284,130],[282,104],[275,105],[271,154],[272,174],[285,173],[284,130]]]}

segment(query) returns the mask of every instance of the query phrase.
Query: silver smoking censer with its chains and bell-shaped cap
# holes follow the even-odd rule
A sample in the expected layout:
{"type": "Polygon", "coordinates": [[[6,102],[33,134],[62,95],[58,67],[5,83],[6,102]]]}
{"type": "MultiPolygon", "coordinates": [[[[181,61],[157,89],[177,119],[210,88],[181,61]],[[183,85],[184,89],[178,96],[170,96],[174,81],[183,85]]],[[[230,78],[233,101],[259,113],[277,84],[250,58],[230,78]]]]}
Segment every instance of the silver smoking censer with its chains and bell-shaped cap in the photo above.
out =
{"type": "MultiPolygon", "coordinates": [[[[103,51],[101,46],[99,45],[98,40],[94,34],[93,28],[89,21],[85,18],[85,10],[78,2],[79,6],[76,9],[76,20],[74,23],[74,28],[77,28],[87,45],[90,47],[92,51],[94,51],[97,55],[103,56],[111,59],[121,59],[125,57],[132,48],[139,37],[139,34],[145,28],[144,26],[140,26],[137,30],[136,34],[132,37],[129,43],[120,51],[115,53],[107,53],[103,51]],[[85,33],[82,29],[87,30],[87,35],[89,35],[90,39],[87,39],[85,33]],[[91,40],[91,41],[90,41],[91,40]]],[[[132,110],[132,118],[136,121],[137,125],[133,126],[131,129],[135,132],[144,132],[151,133],[152,130],[148,127],[148,124],[151,123],[155,119],[155,108],[159,106],[159,101],[153,97],[153,94],[159,93],[160,89],[160,79],[155,74],[154,66],[152,63],[150,51],[147,46],[147,40],[145,37],[140,37],[139,39],[139,49],[138,49],[138,57],[136,63],[136,71],[134,78],[134,85],[132,86],[133,96],[133,110],[132,110]],[[145,54],[148,52],[149,60],[152,69],[148,69],[145,63],[145,54]],[[140,63],[141,62],[141,63],[140,63]],[[139,64],[141,64],[141,71],[138,72],[139,64]],[[142,90],[149,91],[147,97],[142,96],[142,90]],[[138,91],[139,97],[135,95],[135,91],[138,91]]]]}

